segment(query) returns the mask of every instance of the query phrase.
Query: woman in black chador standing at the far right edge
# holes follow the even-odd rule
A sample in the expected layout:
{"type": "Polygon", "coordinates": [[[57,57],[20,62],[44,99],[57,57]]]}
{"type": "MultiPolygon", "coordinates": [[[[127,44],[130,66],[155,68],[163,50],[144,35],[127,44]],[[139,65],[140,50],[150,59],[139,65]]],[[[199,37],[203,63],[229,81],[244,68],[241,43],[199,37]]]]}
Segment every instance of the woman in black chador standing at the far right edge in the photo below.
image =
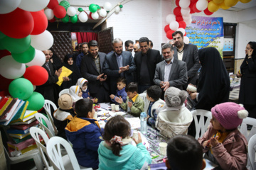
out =
{"type": "Polygon", "coordinates": [[[242,62],[238,77],[241,77],[239,103],[256,118],[256,42],[248,42],[245,48],[245,60],[242,62]]]}

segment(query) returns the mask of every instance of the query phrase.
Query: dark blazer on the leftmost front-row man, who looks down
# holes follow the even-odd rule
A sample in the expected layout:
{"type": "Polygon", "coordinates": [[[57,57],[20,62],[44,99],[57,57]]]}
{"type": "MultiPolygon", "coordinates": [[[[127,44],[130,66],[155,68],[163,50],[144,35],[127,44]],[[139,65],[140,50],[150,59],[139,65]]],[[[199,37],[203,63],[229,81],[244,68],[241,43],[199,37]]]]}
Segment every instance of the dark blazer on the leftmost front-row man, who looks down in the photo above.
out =
{"type": "MultiPolygon", "coordinates": [[[[103,64],[105,62],[106,54],[103,52],[98,52],[98,55],[100,57],[101,73],[103,73],[103,64]]],[[[107,91],[109,90],[109,86],[107,85],[106,81],[101,82],[100,80],[97,80],[97,76],[100,75],[100,73],[97,72],[97,67],[94,59],[92,58],[92,55],[88,54],[82,58],[81,74],[82,77],[89,81],[88,89],[90,91],[90,94],[97,94],[98,90],[100,89],[100,86],[103,86],[107,91]]]]}

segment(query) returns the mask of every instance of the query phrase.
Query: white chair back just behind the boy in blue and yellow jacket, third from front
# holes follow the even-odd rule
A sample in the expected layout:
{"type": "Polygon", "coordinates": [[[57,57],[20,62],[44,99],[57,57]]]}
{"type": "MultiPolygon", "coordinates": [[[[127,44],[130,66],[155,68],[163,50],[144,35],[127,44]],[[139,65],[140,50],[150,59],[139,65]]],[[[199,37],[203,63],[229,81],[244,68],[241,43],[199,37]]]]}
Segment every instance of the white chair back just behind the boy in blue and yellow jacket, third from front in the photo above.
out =
{"type": "Polygon", "coordinates": [[[53,126],[50,123],[50,121],[48,120],[48,118],[46,118],[46,116],[43,115],[42,113],[36,113],[35,116],[36,116],[36,120],[38,120],[38,122],[39,122],[40,128],[43,131],[46,131],[46,133],[48,134],[49,137],[55,136],[53,126]],[[46,127],[46,125],[43,125],[43,120],[45,121],[48,128],[46,127]]]}

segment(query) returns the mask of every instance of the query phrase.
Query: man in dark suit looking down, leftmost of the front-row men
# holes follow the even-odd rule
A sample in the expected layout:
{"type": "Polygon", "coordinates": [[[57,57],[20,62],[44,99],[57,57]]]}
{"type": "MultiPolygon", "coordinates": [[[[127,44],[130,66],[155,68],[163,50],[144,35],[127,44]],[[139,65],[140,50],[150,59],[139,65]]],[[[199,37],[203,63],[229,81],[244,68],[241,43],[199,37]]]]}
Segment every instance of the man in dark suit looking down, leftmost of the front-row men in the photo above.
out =
{"type": "Polygon", "coordinates": [[[98,52],[99,45],[96,40],[88,43],[89,54],[82,58],[81,74],[87,79],[90,96],[98,98],[98,103],[110,101],[109,86],[106,82],[107,75],[103,73],[103,64],[106,54],[98,52]]]}

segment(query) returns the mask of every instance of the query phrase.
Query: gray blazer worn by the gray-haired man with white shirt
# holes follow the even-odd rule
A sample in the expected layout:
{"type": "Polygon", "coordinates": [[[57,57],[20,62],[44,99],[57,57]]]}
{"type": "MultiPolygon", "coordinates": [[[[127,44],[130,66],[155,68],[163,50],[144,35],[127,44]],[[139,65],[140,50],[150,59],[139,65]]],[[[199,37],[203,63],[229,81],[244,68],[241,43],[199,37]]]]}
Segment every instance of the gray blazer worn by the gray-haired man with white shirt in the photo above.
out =
{"type": "MultiPolygon", "coordinates": [[[[160,86],[160,82],[164,81],[164,67],[166,64],[165,61],[159,62],[156,64],[156,72],[154,76],[154,84],[160,86]]],[[[182,90],[182,86],[185,85],[188,81],[188,75],[186,70],[186,62],[177,60],[174,58],[173,64],[171,64],[171,72],[169,74],[169,84],[178,89],[182,90]]]]}

